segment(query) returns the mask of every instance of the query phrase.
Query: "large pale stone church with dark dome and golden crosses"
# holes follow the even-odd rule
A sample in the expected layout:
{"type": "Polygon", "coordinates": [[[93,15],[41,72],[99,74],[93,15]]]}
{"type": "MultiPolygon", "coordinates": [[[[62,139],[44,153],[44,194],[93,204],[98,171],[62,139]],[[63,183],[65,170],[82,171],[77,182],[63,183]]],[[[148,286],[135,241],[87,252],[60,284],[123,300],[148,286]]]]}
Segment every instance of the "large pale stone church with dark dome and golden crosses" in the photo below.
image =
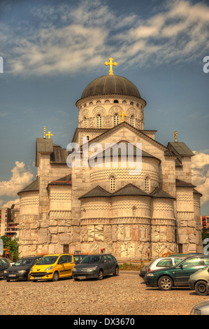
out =
{"type": "Polygon", "coordinates": [[[176,136],[164,146],[154,137],[157,130],[145,130],[145,99],[134,83],[113,73],[117,63],[111,60],[105,63],[110,73],[89,83],[76,102],[72,140],[80,155],[86,142],[89,158],[95,152],[91,146],[102,146],[100,165],[90,166],[87,158],[85,165],[74,159],[69,166],[74,150],[54,144],[50,132],[36,139],[36,180],[18,193],[21,255],[105,248],[118,260],[140,260],[148,246],[153,257],[202,252],[201,193],[191,174],[194,153],[176,136]],[[141,145],[141,167],[132,174],[120,152],[121,145],[130,144],[133,159],[141,145]],[[113,151],[106,160],[106,145],[119,151],[117,162],[113,151]]]}

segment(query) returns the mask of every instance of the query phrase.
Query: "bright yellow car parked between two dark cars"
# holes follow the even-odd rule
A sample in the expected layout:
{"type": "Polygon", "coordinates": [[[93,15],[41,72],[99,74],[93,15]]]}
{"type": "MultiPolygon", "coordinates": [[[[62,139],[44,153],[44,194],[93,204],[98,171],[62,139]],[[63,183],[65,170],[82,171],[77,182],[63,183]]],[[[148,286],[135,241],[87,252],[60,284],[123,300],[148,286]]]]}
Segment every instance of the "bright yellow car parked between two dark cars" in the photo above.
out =
{"type": "Polygon", "coordinates": [[[30,279],[58,281],[59,278],[72,277],[75,262],[73,255],[62,253],[59,255],[45,255],[30,269],[30,279]]]}

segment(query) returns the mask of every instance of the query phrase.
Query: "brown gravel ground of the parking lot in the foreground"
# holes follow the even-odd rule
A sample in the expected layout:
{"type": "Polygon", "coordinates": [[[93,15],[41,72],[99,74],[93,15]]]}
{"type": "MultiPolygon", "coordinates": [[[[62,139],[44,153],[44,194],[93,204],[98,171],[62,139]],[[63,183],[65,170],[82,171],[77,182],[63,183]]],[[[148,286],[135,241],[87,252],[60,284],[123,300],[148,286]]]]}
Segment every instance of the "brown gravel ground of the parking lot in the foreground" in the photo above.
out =
{"type": "Polygon", "coordinates": [[[0,279],[0,315],[189,315],[209,298],[189,288],[147,288],[138,273],[120,271],[102,281],[0,279]]]}

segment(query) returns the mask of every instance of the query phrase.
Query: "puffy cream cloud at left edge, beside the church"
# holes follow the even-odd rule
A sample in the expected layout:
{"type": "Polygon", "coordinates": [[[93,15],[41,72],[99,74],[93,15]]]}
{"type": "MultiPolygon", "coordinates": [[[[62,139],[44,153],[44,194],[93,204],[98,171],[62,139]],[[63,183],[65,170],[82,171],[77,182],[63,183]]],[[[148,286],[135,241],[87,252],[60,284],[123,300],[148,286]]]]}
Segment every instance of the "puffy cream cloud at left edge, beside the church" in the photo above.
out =
{"type": "Polygon", "coordinates": [[[25,168],[24,162],[15,162],[15,167],[11,170],[12,176],[9,181],[0,182],[0,196],[7,195],[15,197],[17,192],[31,183],[33,174],[25,168]]]}

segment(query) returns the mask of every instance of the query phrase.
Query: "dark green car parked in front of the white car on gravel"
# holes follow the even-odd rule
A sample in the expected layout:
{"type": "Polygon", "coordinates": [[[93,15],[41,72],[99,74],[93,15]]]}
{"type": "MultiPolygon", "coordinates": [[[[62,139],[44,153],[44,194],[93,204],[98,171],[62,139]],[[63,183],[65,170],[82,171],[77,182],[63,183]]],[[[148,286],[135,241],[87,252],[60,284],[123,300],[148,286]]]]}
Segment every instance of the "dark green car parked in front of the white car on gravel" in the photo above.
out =
{"type": "Polygon", "coordinates": [[[189,286],[189,277],[199,269],[209,265],[209,255],[193,255],[178,262],[173,267],[150,271],[144,278],[148,287],[171,290],[173,287],[189,286]]]}

